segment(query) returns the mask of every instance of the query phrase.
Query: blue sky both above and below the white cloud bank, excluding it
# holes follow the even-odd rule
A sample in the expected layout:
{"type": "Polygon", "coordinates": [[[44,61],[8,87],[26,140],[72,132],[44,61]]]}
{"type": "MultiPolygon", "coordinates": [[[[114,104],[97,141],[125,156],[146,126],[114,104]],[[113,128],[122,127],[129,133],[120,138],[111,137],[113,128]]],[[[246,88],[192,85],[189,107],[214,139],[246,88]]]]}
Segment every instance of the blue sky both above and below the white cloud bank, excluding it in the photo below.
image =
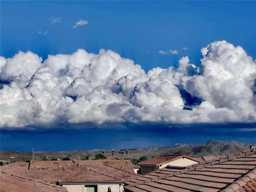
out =
{"type": "MultiPolygon", "coordinates": [[[[202,47],[225,39],[256,58],[255,13],[255,1],[1,1],[1,55],[32,51],[46,59],[48,54],[77,49],[110,49],[148,71],[176,67],[184,56],[198,66],[202,47]]],[[[4,129],[1,149],[119,149],[210,139],[256,140],[255,123],[126,124],[84,130],[83,124],[54,126],[40,131],[4,129]]]]}

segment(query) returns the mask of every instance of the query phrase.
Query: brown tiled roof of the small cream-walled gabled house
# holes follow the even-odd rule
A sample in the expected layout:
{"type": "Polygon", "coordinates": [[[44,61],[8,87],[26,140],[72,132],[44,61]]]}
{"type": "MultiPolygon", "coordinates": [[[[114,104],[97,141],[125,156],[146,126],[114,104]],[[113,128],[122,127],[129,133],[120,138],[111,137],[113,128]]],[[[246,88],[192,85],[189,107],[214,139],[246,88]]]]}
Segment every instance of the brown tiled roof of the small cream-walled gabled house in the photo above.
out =
{"type": "Polygon", "coordinates": [[[189,157],[187,155],[167,155],[167,156],[156,156],[154,158],[150,158],[150,159],[147,159],[146,161],[143,161],[143,162],[140,162],[138,163],[137,165],[155,165],[155,166],[159,166],[159,165],[162,165],[164,163],[168,163],[168,162],[172,162],[176,159],[179,159],[179,158],[188,158],[188,159],[191,159],[193,161],[196,161],[196,162],[202,162],[202,159],[198,159],[198,158],[193,158],[193,157],[189,157]]]}

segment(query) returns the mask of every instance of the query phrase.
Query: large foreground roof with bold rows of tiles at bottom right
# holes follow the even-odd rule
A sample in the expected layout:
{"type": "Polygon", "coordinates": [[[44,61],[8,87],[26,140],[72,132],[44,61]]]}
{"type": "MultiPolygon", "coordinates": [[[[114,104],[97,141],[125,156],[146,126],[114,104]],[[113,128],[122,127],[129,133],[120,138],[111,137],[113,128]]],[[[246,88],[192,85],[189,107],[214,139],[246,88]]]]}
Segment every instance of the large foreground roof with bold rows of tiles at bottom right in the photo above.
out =
{"type": "Polygon", "coordinates": [[[125,182],[127,192],[256,191],[256,147],[186,167],[167,166],[125,182]]]}

